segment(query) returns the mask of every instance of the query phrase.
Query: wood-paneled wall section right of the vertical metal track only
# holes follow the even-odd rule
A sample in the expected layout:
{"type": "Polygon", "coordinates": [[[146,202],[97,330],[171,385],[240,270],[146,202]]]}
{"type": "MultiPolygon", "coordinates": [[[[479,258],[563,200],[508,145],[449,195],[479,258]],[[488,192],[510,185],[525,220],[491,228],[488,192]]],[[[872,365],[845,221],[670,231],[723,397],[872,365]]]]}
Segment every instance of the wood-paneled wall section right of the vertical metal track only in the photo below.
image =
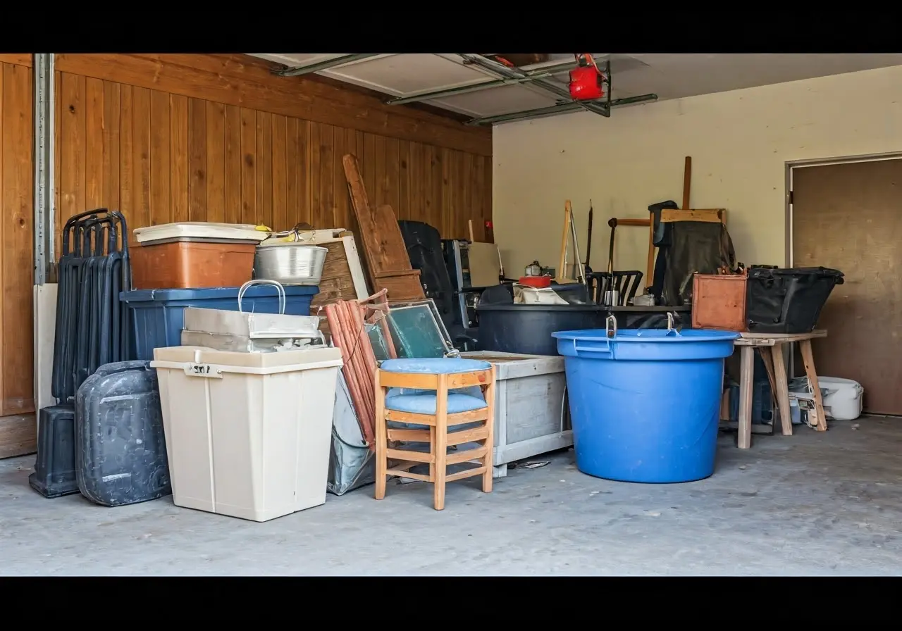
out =
{"type": "MultiPolygon", "coordinates": [[[[468,220],[473,219],[477,238],[482,237],[484,221],[492,212],[492,160],[483,155],[484,130],[410,110],[419,132],[401,123],[380,127],[395,134],[391,136],[323,122],[326,118],[354,123],[336,118],[331,102],[322,102],[325,99],[318,100],[315,110],[305,110],[321,120],[285,114],[290,104],[278,95],[271,105],[244,105],[255,103],[253,98],[224,103],[221,99],[229,94],[217,91],[207,77],[210,64],[223,58],[232,59],[59,56],[58,234],[69,216],[101,206],[119,208],[130,227],[211,221],[285,230],[306,222],[317,228],[355,230],[341,164],[342,156],[350,152],[360,160],[375,203],[390,204],[399,218],[432,224],[445,238],[465,238],[468,220]],[[118,62],[105,63],[107,57],[118,62]],[[139,81],[139,70],[148,59],[155,60],[156,74],[139,81]],[[188,63],[193,68],[184,65],[188,63]],[[122,77],[125,71],[133,74],[122,77]],[[173,73],[182,83],[170,81],[173,73]],[[116,78],[131,78],[132,83],[116,78]],[[201,96],[207,93],[198,92],[198,85],[207,86],[209,96],[201,96]],[[441,122],[426,120],[429,116],[441,122]],[[470,151],[455,148],[461,146],[470,151]]],[[[255,82],[269,89],[339,89],[273,77],[268,69],[261,76],[263,65],[226,64],[228,72],[249,77],[242,84],[245,92],[253,92],[255,82]]],[[[354,103],[370,98],[353,92],[345,97],[354,103]]],[[[301,100],[299,95],[292,98],[301,100]]],[[[397,118],[398,108],[390,109],[397,118]]],[[[372,126],[365,112],[358,112],[357,117],[362,116],[364,124],[356,126],[372,126]]],[[[491,136],[488,140],[491,147],[491,136]]]]}

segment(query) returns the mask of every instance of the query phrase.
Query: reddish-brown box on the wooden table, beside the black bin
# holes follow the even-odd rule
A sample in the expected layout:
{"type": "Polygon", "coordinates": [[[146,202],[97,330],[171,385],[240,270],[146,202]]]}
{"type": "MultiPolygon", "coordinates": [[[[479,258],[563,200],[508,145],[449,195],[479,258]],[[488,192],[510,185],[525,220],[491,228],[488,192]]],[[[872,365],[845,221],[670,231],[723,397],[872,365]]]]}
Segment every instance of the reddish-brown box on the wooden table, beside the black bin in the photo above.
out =
{"type": "Polygon", "coordinates": [[[748,331],[744,274],[695,274],[692,281],[692,327],[748,331]]]}

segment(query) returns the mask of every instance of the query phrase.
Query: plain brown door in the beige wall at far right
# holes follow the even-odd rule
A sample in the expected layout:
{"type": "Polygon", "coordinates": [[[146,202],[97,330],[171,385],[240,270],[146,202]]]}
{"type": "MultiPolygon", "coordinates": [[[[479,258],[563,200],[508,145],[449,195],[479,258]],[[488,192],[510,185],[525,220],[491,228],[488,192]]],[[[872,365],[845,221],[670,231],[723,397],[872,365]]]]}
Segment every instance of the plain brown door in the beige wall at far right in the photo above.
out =
{"type": "Polygon", "coordinates": [[[793,267],[845,274],[818,321],[817,371],[860,382],[865,411],[902,416],[902,158],[793,166],[789,181],[793,267]]]}

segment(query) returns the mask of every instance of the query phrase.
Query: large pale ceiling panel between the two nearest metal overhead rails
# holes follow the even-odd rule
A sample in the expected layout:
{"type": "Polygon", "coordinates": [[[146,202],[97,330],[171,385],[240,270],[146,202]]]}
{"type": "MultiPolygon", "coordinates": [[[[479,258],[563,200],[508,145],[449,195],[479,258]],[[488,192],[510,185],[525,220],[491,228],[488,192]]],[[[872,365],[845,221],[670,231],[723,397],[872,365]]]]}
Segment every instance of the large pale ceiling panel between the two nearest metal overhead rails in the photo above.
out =
{"type": "Polygon", "coordinates": [[[428,53],[367,59],[353,66],[323,70],[322,74],[394,96],[410,96],[490,79],[481,71],[428,53]]]}

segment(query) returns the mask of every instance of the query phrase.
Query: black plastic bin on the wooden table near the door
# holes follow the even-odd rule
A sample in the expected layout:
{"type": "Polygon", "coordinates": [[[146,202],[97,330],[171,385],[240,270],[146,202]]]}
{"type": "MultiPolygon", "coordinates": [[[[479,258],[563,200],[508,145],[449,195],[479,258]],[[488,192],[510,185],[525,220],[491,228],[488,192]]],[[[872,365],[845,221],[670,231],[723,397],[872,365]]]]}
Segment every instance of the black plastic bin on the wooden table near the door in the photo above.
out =
{"type": "Polygon", "coordinates": [[[752,267],[746,289],[750,333],[811,333],[842,271],[752,267]]]}

